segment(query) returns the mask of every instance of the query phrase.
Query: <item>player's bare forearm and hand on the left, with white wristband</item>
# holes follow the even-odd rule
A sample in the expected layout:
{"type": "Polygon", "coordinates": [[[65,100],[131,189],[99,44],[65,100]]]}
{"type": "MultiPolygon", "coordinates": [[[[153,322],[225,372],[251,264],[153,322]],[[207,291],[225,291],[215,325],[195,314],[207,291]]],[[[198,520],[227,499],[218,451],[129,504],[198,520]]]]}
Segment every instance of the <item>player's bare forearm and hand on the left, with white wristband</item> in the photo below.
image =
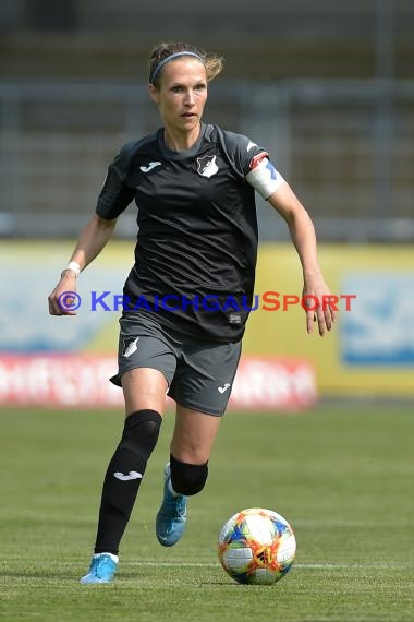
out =
{"type": "MultiPolygon", "coordinates": [[[[117,218],[106,220],[97,214],[90,218],[82,230],[71,260],[78,264],[81,271],[84,270],[105,248],[111,238],[117,225],[117,218]]],[[[63,270],[60,280],[50,294],[49,313],[50,315],[76,315],[75,311],[62,308],[59,297],[65,291],[76,291],[76,272],[74,270],[63,270]]],[[[65,307],[68,299],[65,299],[65,307]]]]}

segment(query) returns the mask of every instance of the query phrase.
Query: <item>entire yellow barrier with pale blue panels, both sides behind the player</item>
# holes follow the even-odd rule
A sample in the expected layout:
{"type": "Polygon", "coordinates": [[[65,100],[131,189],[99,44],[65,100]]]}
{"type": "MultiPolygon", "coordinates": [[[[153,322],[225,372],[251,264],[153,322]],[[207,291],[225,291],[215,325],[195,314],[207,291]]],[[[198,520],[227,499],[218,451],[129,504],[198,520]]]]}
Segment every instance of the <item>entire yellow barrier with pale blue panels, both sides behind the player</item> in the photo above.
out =
{"type": "MultiPolygon", "coordinates": [[[[0,249],[0,350],[113,352],[120,313],[87,308],[90,291],[122,294],[134,242],[112,241],[82,275],[85,304],[74,318],[50,318],[47,296],[73,242],[5,241],[0,249]]],[[[336,295],[345,301],[326,337],[307,335],[300,306],[251,313],[244,352],[304,358],[316,367],[321,395],[414,396],[414,253],[407,247],[324,244],[319,261],[336,295]]],[[[302,271],[291,244],[261,244],[256,294],[302,294],[302,271]]],[[[263,301],[259,302],[263,304],[263,301]]]]}

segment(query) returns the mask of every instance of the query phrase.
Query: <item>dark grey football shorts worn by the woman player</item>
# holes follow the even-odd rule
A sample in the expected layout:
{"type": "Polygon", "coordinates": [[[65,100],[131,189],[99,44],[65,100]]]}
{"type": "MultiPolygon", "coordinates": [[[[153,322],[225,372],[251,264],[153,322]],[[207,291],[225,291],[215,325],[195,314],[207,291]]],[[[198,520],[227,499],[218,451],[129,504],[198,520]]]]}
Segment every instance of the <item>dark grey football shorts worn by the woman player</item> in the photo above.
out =
{"type": "Polygon", "coordinates": [[[238,369],[242,342],[205,342],[161,326],[139,313],[120,319],[119,372],[111,382],[121,386],[121,376],[131,369],[158,369],[167,379],[167,395],[186,408],[222,416],[238,369]]]}

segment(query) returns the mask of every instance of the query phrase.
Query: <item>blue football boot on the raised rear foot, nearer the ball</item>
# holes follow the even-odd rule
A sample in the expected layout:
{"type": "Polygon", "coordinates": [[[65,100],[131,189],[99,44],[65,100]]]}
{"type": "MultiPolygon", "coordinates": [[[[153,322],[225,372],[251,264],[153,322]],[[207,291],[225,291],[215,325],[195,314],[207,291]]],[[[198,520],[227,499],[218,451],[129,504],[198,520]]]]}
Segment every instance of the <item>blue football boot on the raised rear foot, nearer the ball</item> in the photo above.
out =
{"type": "Polygon", "coordinates": [[[187,521],[187,498],[184,494],[175,497],[170,490],[170,464],[166,466],[163,500],[156,519],[156,533],[160,545],[172,547],[184,533],[187,521]]]}

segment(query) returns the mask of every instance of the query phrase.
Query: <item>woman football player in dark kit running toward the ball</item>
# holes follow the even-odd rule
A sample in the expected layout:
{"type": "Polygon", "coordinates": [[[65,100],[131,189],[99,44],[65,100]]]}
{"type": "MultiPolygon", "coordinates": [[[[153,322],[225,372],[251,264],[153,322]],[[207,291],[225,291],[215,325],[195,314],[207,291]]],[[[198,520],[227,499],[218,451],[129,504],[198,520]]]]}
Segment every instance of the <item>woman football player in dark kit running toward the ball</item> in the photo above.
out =
{"type": "MultiPolygon", "coordinates": [[[[119,371],[125,423],[105,477],[95,554],[84,584],[108,583],[147,460],[157,443],[166,393],[176,402],[170,459],[156,534],[174,545],[186,523],[187,497],[207,479],[208,458],[231,393],[253,298],[257,252],[255,191],[287,222],[304,277],[303,295],[329,296],[312,220],[268,158],[249,139],[202,122],[207,85],[221,59],[182,43],[157,46],[149,95],[162,127],[127,143],[109,166],[96,214],[81,232],[49,296],[59,303],[104,249],[118,216],[135,199],[135,264],[124,285],[119,371]],[[229,306],[230,300],[233,301],[229,306]]],[[[329,331],[334,312],[306,312],[329,331]]]]}

